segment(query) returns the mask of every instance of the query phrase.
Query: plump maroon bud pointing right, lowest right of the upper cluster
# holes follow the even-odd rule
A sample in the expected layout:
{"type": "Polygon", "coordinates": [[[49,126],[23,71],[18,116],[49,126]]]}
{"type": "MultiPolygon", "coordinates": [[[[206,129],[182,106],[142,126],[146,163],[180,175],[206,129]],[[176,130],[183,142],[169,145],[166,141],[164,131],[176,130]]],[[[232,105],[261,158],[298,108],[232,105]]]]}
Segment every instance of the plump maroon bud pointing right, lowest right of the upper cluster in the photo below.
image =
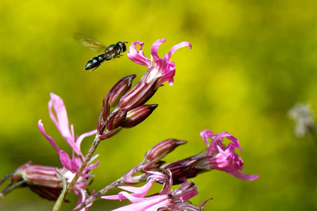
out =
{"type": "Polygon", "coordinates": [[[128,111],[126,114],[126,120],[120,126],[123,128],[132,128],[140,124],[143,120],[150,116],[157,106],[158,104],[141,105],[128,111]]]}

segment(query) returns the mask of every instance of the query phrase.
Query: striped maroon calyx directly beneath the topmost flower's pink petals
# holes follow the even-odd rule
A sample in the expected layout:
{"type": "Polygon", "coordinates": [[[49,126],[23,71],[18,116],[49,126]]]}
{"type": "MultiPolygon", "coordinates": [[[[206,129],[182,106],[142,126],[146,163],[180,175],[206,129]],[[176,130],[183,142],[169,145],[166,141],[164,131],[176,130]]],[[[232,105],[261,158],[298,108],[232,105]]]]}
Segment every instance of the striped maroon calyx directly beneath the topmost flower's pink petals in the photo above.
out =
{"type": "Polygon", "coordinates": [[[151,81],[150,84],[145,81],[139,81],[133,88],[124,94],[119,102],[120,109],[132,109],[139,105],[145,104],[156,92],[154,90],[156,80],[151,81]]]}

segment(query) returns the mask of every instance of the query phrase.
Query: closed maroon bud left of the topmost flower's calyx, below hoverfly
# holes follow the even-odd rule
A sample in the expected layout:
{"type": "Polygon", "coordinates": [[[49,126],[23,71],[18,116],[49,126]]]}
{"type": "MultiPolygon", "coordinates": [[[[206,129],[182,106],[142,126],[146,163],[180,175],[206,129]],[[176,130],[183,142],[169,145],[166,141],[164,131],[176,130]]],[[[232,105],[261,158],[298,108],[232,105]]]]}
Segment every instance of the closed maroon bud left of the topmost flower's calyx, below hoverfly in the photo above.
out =
{"type": "Polygon", "coordinates": [[[108,92],[107,96],[109,97],[109,105],[114,106],[118,104],[122,95],[124,95],[132,86],[133,79],[137,74],[128,75],[120,79],[108,92]]]}

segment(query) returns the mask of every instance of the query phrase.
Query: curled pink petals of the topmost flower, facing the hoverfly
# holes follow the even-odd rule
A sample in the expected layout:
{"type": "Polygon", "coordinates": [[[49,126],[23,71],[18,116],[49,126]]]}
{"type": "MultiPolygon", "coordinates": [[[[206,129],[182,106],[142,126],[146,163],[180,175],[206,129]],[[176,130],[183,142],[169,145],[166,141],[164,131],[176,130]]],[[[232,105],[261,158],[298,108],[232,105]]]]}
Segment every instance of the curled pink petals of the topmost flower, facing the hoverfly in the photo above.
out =
{"type": "Polygon", "coordinates": [[[185,46],[190,47],[191,43],[189,42],[181,42],[177,45],[173,46],[171,50],[163,56],[163,58],[159,58],[158,51],[159,46],[165,42],[166,39],[159,39],[153,43],[151,48],[151,59],[147,58],[142,50],[144,42],[135,41],[133,42],[130,47],[129,51],[127,52],[127,56],[129,59],[134,61],[137,64],[146,66],[148,71],[143,76],[142,80],[145,80],[146,83],[150,84],[153,80],[158,80],[154,89],[159,88],[165,81],[169,81],[169,85],[173,85],[174,83],[174,75],[175,75],[175,64],[174,61],[170,61],[171,55],[179,48],[183,48],[185,46]],[[140,45],[140,49],[137,50],[137,44],[140,45]],[[152,58],[154,59],[154,65],[152,62],[152,58]]]}

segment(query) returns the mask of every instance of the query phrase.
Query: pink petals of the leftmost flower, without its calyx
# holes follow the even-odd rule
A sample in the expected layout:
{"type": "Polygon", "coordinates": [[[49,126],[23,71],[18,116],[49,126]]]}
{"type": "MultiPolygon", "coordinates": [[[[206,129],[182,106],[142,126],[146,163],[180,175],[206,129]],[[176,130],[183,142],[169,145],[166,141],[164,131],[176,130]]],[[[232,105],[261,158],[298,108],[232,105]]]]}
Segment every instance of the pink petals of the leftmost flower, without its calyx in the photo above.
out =
{"type": "MultiPolygon", "coordinates": [[[[51,99],[49,100],[49,104],[48,104],[49,116],[52,119],[55,126],[57,127],[58,131],[61,133],[61,136],[66,140],[68,145],[73,149],[72,159],[70,159],[70,157],[65,151],[59,149],[59,147],[55,143],[55,140],[52,137],[46,134],[41,120],[38,121],[38,127],[41,133],[43,134],[43,136],[53,145],[54,149],[59,154],[61,164],[66,169],[68,169],[68,172],[66,172],[67,176],[64,176],[64,177],[69,178],[68,182],[70,182],[84,160],[84,156],[81,152],[81,147],[80,147],[81,141],[87,136],[96,134],[97,130],[89,131],[89,132],[83,133],[79,137],[75,137],[74,126],[70,125],[70,129],[69,129],[67,112],[66,112],[66,108],[65,108],[63,100],[54,93],[50,93],[50,96],[51,96],[51,99]],[[54,114],[53,109],[56,115],[54,114]]],[[[91,159],[91,161],[95,157],[96,156],[94,156],[91,159]]],[[[83,173],[81,174],[81,177],[77,181],[77,184],[75,184],[73,191],[76,195],[80,196],[77,204],[85,200],[86,184],[89,183],[89,180],[87,180],[87,178],[92,177],[90,174],[91,172],[90,170],[96,167],[98,164],[99,164],[99,161],[97,161],[94,164],[91,164],[90,166],[87,166],[85,170],[83,171],[83,173]]]]}

